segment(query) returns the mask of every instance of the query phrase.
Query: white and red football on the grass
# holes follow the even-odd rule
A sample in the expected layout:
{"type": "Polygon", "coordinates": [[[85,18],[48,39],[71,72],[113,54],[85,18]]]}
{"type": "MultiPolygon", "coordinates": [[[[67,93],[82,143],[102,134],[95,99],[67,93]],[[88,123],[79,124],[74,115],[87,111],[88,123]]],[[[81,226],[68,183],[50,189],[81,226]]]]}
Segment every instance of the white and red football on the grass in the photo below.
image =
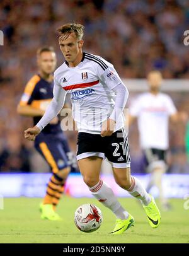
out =
{"type": "Polygon", "coordinates": [[[94,204],[83,204],[76,209],[74,214],[76,227],[86,233],[98,230],[102,221],[101,211],[94,204]]]}

